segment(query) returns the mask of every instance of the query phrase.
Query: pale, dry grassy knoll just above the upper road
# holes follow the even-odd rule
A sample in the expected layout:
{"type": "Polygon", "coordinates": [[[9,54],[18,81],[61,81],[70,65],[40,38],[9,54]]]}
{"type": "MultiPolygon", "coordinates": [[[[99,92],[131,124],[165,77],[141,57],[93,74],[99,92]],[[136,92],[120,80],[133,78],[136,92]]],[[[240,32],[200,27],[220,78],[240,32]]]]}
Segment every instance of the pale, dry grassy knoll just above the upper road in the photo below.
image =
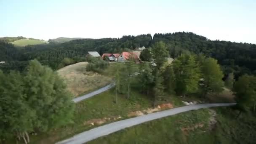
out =
{"type": "Polygon", "coordinates": [[[112,82],[112,78],[96,72],[87,72],[87,62],[72,64],[57,72],[67,83],[68,90],[75,96],[104,87],[112,82]]]}

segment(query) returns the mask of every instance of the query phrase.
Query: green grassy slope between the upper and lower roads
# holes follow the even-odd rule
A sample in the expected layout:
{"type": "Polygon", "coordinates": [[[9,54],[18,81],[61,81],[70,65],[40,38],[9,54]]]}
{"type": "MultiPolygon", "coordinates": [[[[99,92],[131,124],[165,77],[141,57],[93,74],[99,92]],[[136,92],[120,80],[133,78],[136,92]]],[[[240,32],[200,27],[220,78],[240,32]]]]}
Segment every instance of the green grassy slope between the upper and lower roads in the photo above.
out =
{"type": "Polygon", "coordinates": [[[131,99],[126,99],[124,95],[119,95],[117,104],[114,103],[114,97],[114,90],[111,89],[86,101],[77,103],[73,123],[47,133],[38,133],[37,136],[32,135],[31,143],[53,144],[56,141],[69,138],[95,126],[133,117],[134,115],[131,114],[134,112],[148,109],[152,106],[151,99],[134,91],[131,93],[131,99]]]}

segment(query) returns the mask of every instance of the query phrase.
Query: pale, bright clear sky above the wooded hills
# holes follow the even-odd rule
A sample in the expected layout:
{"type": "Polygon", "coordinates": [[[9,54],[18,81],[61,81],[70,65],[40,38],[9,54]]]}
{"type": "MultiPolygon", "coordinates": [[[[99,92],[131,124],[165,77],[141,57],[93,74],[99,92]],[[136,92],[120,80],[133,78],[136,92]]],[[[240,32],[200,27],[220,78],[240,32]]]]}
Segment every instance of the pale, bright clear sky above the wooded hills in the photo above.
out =
{"type": "Polygon", "coordinates": [[[0,37],[194,32],[256,43],[256,0],[0,0],[0,37]]]}

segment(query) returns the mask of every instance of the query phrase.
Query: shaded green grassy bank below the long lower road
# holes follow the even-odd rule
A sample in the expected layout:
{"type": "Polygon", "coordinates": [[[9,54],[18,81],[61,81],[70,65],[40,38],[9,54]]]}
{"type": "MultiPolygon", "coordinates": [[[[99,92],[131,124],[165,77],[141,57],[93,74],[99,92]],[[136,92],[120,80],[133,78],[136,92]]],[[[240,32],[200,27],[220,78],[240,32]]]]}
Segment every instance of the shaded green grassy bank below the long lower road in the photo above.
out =
{"type": "Polygon", "coordinates": [[[230,108],[200,109],[154,120],[88,144],[255,144],[256,119],[230,108]],[[216,111],[212,117],[211,111],[216,111]],[[233,114],[233,115],[230,115],[233,114]],[[215,124],[210,123],[216,119],[215,124]]]}

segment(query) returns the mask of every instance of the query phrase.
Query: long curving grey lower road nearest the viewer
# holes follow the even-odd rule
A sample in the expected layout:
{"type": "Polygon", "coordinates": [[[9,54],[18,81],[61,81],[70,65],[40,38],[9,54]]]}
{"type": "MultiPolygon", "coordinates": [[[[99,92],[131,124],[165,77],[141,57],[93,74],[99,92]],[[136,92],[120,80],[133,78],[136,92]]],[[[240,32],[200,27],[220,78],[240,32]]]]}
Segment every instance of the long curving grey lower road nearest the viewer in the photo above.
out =
{"type": "Polygon", "coordinates": [[[85,131],[83,133],[77,134],[70,139],[66,139],[63,141],[59,141],[56,144],[83,144],[85,142],[91,141],[93,139],[99,138],[101,136],[108,135],[110,133],[114,133],[116,131],[120,131],[124,128],[131,127],[133,125],[138,125],[144,122],[148,122],[150,120],[156,120],[162,117],[167,117],[170,115],[176,115],[181,112],[187,112],[190,110],[201,109],[201,108],[208,108],[208,107],[225,107],[225,106],[232,106],[235,103],[229,104],[195,104],[189,105],[184,107],[177,107],[174,109],[168,109],[161,112],[155,112],[148,115],[141,115],[139,117],[133,117],[126,120],[120,120],[114,123],[109,123],[107,125],[102,125],[97,128],[93,128],[91,130],[85,131]]]}

